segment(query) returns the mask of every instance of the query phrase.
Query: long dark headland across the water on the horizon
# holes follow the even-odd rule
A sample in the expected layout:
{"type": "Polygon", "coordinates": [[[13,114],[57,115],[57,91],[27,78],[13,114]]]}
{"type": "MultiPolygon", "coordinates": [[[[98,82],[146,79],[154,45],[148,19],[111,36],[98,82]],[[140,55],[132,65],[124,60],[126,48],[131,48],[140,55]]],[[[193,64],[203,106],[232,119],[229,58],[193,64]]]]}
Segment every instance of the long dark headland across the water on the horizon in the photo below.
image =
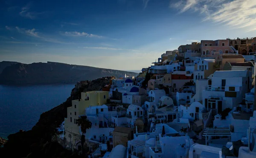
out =
{"type": "Polygon", "coordinates": [[[81,80],[93,80],[104,76],[136,76],[137,73],[56,62],[7,66],[0,73],[0,84],[38,85],[67,84],[81,80]]]}

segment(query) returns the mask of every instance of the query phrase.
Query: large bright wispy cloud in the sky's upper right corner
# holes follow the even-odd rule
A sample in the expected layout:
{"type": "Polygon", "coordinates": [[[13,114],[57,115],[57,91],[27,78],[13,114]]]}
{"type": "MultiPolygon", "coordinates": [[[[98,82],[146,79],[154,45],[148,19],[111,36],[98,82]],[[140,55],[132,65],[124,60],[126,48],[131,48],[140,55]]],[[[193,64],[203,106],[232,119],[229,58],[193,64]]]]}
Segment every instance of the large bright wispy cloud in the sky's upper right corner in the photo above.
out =
{"type": "Polygon", "coordinates": [[[204,16],[203,21],[212,21],[231,28],[256,30],[256,0],[180,0],[170,3],[180,13],[197,11],[204,16]]]}

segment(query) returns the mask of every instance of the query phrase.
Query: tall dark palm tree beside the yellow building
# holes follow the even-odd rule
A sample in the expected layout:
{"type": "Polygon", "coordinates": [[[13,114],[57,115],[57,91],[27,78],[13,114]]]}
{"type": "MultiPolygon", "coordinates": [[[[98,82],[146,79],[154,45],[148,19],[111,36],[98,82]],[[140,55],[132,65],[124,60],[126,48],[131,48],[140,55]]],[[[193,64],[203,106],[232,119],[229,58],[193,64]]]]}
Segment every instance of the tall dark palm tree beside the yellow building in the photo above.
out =
{"type": "Polygon", "coordinates": [[[92,123],[88,120],[87,116],[79,116],[79,118],[76,119],[76,124],[81,127],[82,155],[84,155],[84,142],[85,142],[84,133],[86,133],[87,129],[90,129],[92,127],[92,123]]]}

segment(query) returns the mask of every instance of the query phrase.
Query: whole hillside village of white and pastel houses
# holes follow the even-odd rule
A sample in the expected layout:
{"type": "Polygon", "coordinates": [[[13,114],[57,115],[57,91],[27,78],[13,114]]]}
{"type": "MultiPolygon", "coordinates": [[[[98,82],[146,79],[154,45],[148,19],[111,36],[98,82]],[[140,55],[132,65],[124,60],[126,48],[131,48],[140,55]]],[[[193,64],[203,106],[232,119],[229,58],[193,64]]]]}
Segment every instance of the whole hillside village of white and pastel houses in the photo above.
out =
{"type": "Polygon", "coordinates": [[[256,158],[254,54],[256,37],[166,51],[82,92],[58,142],[88,158],[256,158]]]}

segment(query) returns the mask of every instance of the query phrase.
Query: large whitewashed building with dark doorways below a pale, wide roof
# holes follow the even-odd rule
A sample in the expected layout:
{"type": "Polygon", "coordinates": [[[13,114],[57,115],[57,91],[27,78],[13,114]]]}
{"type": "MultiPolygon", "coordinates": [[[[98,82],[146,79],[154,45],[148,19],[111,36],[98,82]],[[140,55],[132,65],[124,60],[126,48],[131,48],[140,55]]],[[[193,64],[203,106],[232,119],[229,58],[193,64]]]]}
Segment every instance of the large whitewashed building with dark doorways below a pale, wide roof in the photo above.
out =
{"type": "Polygon", "coordinates": [[[248,71],[215,71],[211,82],[203,92],[206,108],[220,113],[226,108],[236,107],[250,90],[248,71]]]}

